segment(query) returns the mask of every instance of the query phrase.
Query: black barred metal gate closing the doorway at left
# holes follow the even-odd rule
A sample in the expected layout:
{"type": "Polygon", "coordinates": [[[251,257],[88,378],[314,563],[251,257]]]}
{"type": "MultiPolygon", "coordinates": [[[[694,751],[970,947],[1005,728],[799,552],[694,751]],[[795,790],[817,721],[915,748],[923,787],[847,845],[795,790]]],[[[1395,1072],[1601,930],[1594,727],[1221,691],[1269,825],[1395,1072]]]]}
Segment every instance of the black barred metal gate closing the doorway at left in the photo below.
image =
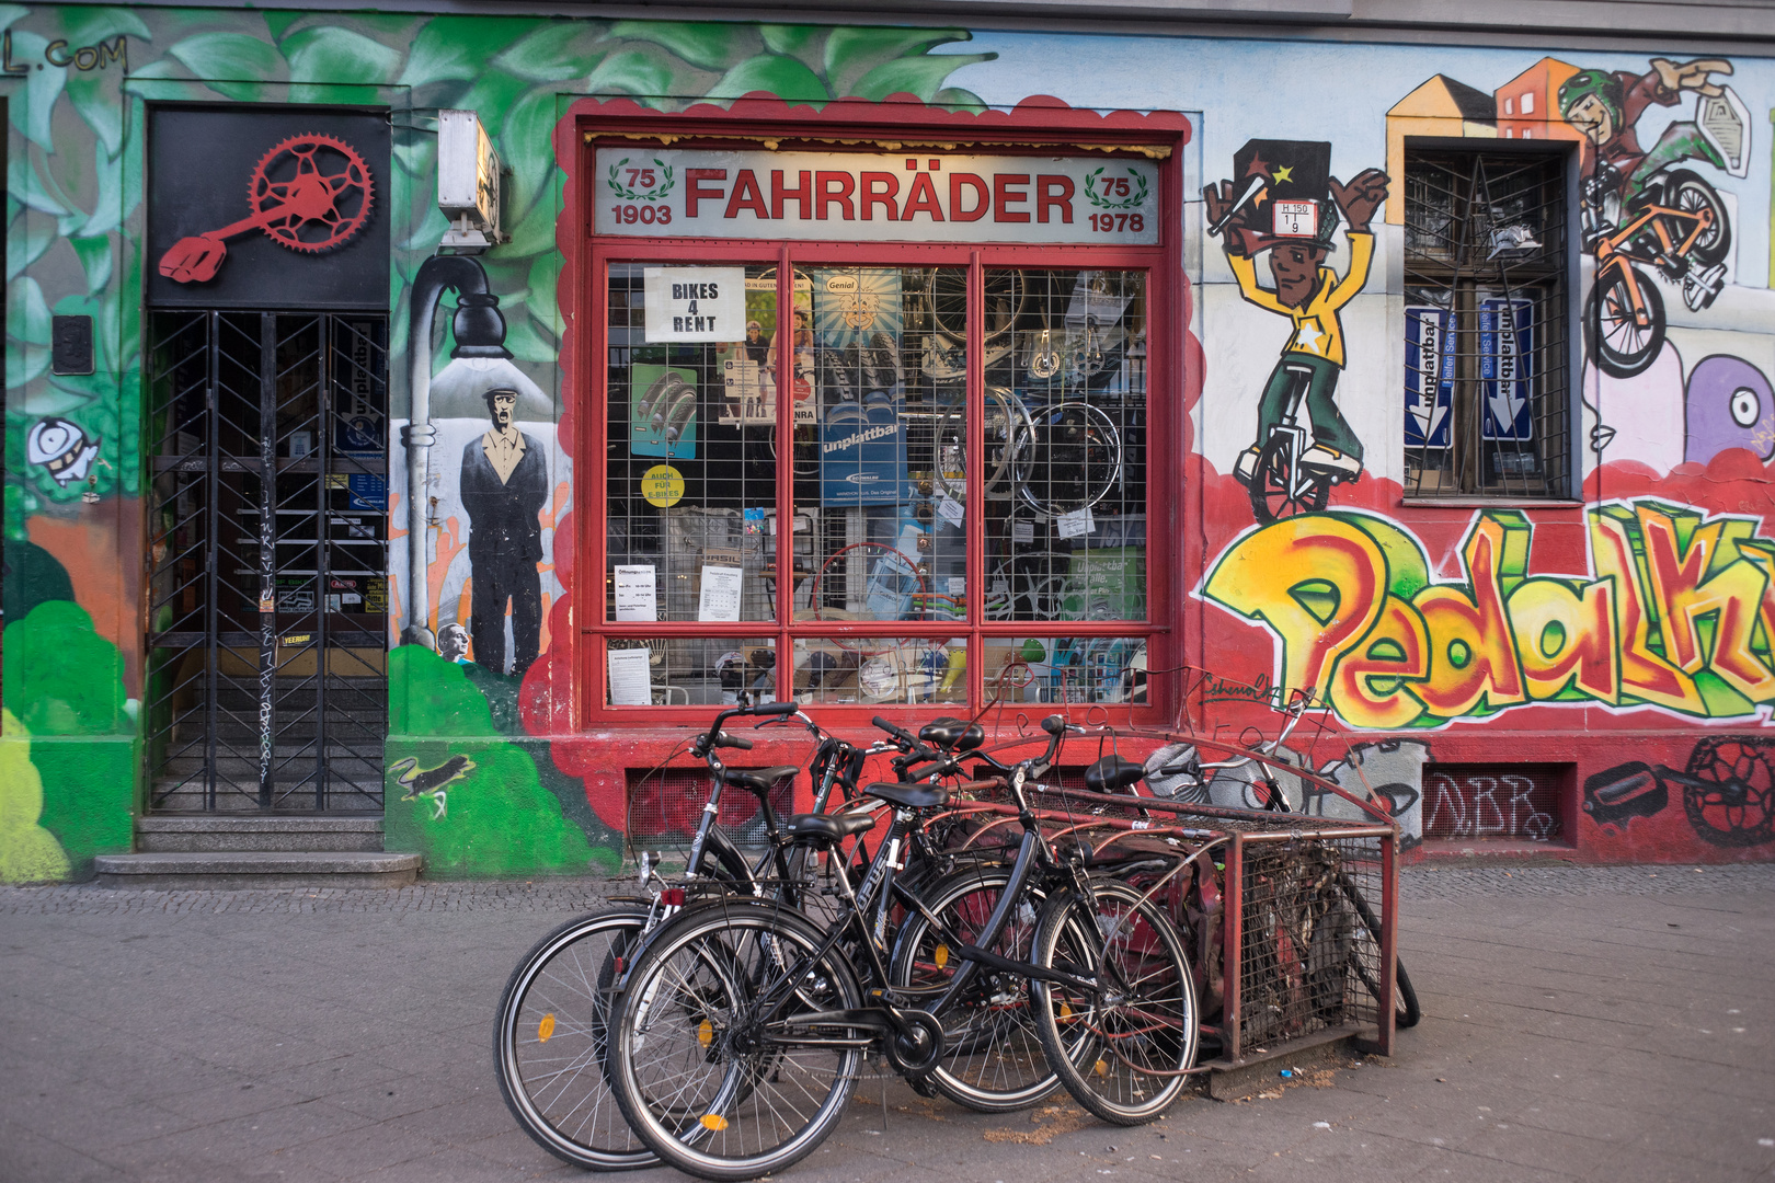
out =
{"type": "Polygon", "coordinates": [[[382,811],[387,316],[151,312],[156,811],[382,811]]]}

